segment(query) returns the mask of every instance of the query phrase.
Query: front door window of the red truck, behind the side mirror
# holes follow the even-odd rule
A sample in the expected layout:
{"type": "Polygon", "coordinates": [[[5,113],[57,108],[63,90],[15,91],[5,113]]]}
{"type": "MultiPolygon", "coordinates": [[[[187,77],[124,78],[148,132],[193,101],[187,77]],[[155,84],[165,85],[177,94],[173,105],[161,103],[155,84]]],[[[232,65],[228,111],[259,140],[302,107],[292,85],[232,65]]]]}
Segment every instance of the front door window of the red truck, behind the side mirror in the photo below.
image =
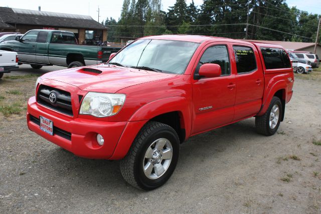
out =
{"type": "Polygon", "coordinates": [[[230,74],[230,60],[225,45],[212,46],[204,52],[199,66],[205,63],[218,64],[221,66],[222,75],[230,74]]]}

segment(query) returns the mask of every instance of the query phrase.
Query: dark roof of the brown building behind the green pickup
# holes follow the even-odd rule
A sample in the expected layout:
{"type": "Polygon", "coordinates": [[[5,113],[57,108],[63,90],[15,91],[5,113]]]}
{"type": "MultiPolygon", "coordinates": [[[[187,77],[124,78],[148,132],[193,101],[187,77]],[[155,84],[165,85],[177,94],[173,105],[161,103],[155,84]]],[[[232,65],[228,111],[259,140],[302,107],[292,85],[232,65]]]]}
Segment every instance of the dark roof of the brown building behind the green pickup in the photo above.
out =
{"type": "Polygon", "coordinates": [[[7,25],[25,24],[49,27],[108,29],[90,16],[5,7],[0,7],[0,28],[2,28],[1,20],[7,25]]]}

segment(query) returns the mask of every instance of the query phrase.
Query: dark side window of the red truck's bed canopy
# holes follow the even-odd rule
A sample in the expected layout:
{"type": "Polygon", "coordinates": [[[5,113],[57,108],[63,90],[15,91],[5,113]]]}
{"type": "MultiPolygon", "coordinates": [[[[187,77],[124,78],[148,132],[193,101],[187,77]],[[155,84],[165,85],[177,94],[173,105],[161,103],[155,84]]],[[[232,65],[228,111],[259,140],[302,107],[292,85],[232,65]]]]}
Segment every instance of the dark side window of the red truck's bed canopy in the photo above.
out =
{"type": "Polygon", "coordinates": [[[281,48],[261,48],[266,69],[290,68],[291,62],[281,48]]]}

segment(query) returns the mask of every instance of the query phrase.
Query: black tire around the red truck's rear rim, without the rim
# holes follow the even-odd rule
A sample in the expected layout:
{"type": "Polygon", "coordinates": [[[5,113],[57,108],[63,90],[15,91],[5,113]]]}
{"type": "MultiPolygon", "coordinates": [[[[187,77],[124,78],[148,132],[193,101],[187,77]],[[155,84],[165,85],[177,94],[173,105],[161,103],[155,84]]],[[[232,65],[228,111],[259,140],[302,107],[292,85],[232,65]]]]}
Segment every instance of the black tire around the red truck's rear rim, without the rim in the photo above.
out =
{"type": "Polygon", "coordinates": [[[280,122],[281,122],[281,118],[282,118],[282,113],[283,113],[283,109],[282,109],[282,102],[280,100],[279,97],[273,96],[270,105],[266,111],[266,113],[262,116],[257,116],[255,118],[255,128],[256,131],[262,135],[266,135],[266,136],[271,136],[274,135],[275,132],[277,131],[277,129],[279,128],[280,122]],[[272,108],[274,105],[277,105],[279,108],[279,116],[278,116],[278,121],[276,123],[276,126],[272,129],[270,127],[270,114],[272,111],[272,108]]]}

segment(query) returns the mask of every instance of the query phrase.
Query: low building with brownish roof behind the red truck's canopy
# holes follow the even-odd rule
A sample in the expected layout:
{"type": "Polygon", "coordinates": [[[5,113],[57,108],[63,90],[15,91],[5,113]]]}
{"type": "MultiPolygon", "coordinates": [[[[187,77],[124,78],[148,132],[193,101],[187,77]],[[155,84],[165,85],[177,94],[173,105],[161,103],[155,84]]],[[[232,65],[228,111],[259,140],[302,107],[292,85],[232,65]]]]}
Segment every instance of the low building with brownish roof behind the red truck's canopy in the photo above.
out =
{"type": "MultiPolygon", "coordinates": [[[[267,41],[267,40],[246,40],[250,42],[259,42],[259,43],[267,43],[273,45],[280,45],[284,49],[294,50],[294,51],[307,51],[314,53],[314,42],[283,42],[283,41],[267,41]]],[[[321,45],[316,44],[316,54],[319,59],[321,59],[321,45]]]]}

